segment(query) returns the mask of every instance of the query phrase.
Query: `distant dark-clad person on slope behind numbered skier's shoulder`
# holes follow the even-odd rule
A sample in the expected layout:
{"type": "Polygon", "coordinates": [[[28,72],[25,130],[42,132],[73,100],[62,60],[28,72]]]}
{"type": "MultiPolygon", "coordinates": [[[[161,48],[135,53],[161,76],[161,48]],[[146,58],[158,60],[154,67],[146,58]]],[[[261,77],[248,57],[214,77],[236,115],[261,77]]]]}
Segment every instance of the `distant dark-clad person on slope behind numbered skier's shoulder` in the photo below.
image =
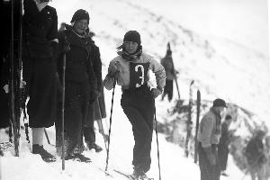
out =
{"type": "Polygon", "coordinates": [[[174,62],[172,58],[172,50],[170,48],[169,42],[167,43],[166,56],[165,58],[161,59],[160,63],[165,68],[166,71],[166,85],[161,100],[163,101],[164,97],[167,94],[167,99],[169,102],[171,102],[174,94],[174,80],[176,76],[175,76],[174,62]]]}

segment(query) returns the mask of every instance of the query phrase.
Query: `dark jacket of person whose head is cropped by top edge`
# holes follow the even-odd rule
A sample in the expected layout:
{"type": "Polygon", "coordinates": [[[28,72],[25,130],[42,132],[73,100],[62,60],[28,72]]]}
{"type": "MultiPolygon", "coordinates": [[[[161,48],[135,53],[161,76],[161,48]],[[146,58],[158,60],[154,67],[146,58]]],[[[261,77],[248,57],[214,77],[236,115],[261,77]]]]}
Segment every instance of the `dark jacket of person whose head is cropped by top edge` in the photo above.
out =
{"type": "Polygon", "coordinates": [[[23,1],[23,56],[52,58],[56,49],[52,41],[58,37],[56,9],[47,5],[40,12],[33,0],[23,1]]]}

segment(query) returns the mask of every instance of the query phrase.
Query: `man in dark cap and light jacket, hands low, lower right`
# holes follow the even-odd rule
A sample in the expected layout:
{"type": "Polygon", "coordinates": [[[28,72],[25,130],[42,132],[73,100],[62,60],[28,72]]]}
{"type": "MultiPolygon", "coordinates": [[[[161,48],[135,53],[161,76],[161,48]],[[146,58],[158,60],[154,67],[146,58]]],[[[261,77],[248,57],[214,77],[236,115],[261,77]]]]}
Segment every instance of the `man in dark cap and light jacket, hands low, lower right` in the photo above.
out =
{"type": "Polygon", "coordinates": [[[218,144],[221,136],[220,113],[227,107],[222,99],[213,101],[209,112],[202,117],[198,130],[198,153],[201,180],[219,180],[218,144]]]}

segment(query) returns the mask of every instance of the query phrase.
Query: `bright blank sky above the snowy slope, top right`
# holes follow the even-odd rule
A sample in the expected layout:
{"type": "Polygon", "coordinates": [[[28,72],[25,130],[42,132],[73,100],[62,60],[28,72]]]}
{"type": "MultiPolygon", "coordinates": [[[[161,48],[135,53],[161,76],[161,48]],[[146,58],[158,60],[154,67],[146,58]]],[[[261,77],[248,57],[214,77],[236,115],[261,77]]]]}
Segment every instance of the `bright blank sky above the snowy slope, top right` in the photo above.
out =
{"type": "Polygon", "coordinates": [[[237,41],[268,54],[267,0],[138,0],[132,3],[202,35],[237,41]]]}

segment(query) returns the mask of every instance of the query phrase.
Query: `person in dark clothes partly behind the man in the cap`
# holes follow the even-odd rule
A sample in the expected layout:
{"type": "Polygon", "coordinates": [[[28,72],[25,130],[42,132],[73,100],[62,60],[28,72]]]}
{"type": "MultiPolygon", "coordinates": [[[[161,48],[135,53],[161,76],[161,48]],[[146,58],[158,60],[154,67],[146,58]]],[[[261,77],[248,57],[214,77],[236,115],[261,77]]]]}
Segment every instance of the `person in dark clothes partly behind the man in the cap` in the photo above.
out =
{"type": "Polygon", "coordinates": [[[220,160],[221,175],[227,175],[225,170],[227,168],[228,154],[229,154],[229,124],[231,122],[231,115],[225,116],[225,121],[221,123],[221,137],[218,146],[218,154],[220,160]]]}

